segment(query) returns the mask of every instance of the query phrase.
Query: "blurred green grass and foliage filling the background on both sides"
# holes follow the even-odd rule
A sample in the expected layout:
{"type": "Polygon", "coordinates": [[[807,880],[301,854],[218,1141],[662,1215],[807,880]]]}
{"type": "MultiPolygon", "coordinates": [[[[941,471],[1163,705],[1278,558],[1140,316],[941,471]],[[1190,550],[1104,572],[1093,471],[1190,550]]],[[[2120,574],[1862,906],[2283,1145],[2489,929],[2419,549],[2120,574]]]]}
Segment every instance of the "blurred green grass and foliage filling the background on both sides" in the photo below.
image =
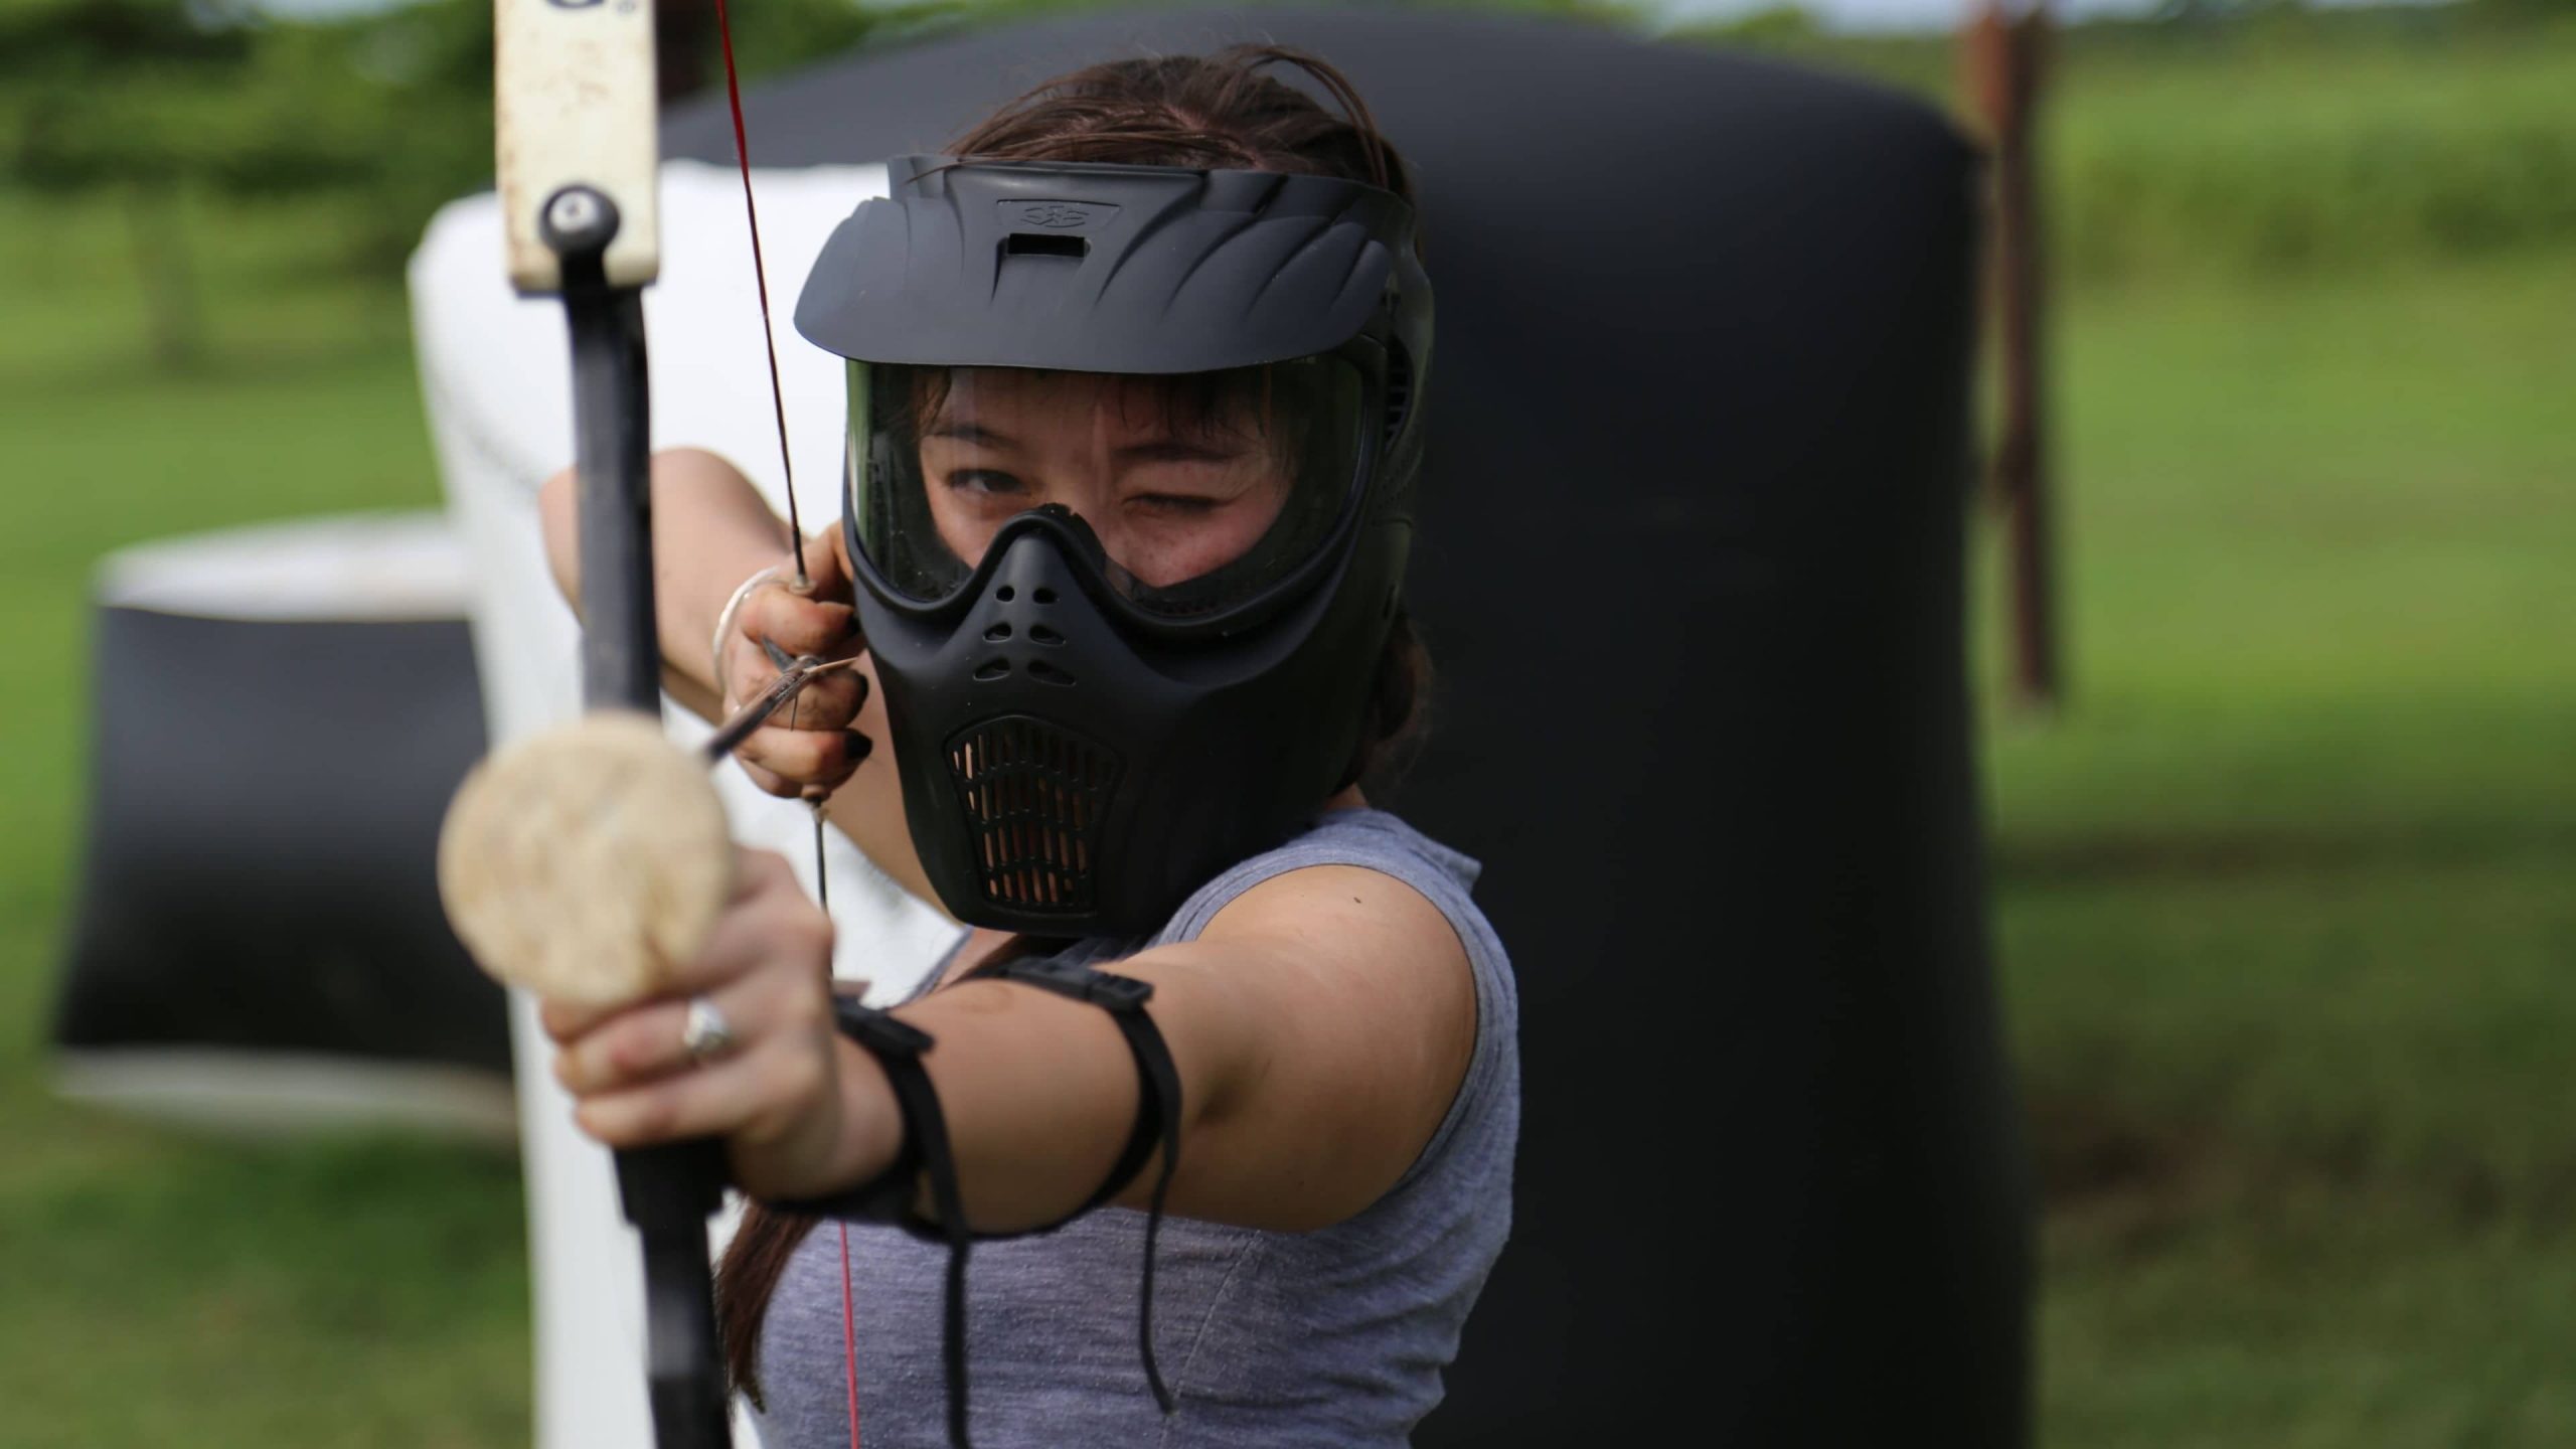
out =
{"type": "MultiPolygon", "coordinates": [[[[2079,706],[1986,735],[2050,1446],[2576,1444],[2568,3],[2063,36],[2043,152],[2079,706]]],[[[737,5],[752,75],[958,15],[737,5]]],[[[435,500],[386,263],[489,175],[482,10],[0,0],[0,456],[28,480],[0,492],[10,1449],[526,1441],[507,1165],[178,1140],[54,1098],[39,1047],[93,559],[435,500]],[[82,77],[142,111],[70,111],[82,77]],[[36,193],[41,106],[134,134],[46,139],[36,193]],[[224,369],[137,366],[131,196],[180,199],[224,369]]],[[[1942,101],[1955,75],[1947,39],[1801,15],[1716,39],[1942,101]]]]}

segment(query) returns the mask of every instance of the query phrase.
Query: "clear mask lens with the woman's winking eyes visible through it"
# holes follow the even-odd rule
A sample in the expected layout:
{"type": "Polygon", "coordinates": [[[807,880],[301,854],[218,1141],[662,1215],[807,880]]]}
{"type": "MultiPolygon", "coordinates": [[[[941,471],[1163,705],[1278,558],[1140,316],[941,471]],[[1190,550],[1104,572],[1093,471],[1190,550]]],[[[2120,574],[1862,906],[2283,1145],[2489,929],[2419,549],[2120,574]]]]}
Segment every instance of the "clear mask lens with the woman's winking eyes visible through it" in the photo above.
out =
{"type": "Polygon", "coordinates": [[[1079,516],[1110,588],[1170,619],[1306,565],[1358,498],[1345,358],[1175,374],[850,364],[848,508],[878,575],[935,603],[1036,508],[1079,516]]]}

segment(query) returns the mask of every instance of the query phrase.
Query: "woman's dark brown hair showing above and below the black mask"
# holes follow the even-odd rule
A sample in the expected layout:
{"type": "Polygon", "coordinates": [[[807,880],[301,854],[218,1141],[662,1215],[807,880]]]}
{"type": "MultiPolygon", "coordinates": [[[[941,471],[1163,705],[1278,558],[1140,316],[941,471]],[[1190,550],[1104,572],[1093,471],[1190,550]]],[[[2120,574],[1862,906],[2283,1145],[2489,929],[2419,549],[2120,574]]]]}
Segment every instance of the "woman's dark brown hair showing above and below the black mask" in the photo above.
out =
{"type": "MultiPolygon", "coordinates": [[[[1285,46],[1115,59],[1059,75],[951,142],[948,155],[1285,170],[1368,180],[1412,199],[1404,162],[1350,80],[1329,62],[1285,46]],[[1267,64],[1303,70],[1337,111],[1265,75],[1267,64]]],[[[1378,655],[1360,750],[1342,784],[1394,784],[1422,730],[1427,696],[1430,655],[1414,637],[1412,616],[1399,608],[1378,655]]],[[[755,1201],[716,1269],[726,1369],[752,1403],[760,1403],[760,1323],[778,1276],[814,1225],[814,1217],[755,1201]]]]}

